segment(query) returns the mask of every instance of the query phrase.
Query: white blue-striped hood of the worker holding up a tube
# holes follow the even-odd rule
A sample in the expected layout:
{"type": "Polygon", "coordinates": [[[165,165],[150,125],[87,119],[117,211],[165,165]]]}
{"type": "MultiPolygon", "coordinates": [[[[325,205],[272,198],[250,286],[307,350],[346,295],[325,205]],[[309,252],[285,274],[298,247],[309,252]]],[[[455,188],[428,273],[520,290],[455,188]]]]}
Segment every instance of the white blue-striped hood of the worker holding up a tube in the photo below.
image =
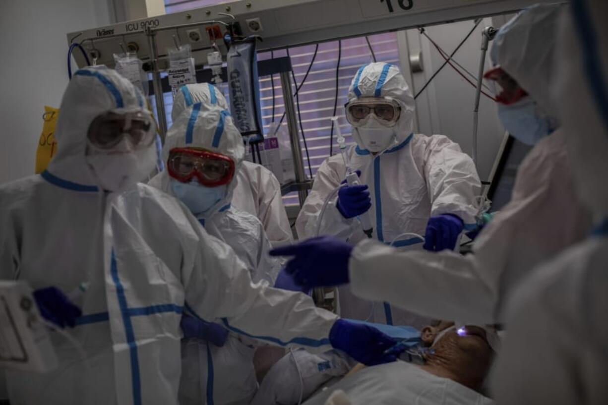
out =
{"type": "MultiPolygon", "coordinates": [[[[395,99],[401,106],[399,121],[393,127],[396,143],[401,144],[412,133],[415,103],[399,67],[389,63],[370,63],[359,67],[359,71],[348,88],[348,100],[359,97],[392,97],[395,99]]],[[[356,128],[353,128],[353,138],[359,148],[365,149],[365,144],[356,128]]]]}

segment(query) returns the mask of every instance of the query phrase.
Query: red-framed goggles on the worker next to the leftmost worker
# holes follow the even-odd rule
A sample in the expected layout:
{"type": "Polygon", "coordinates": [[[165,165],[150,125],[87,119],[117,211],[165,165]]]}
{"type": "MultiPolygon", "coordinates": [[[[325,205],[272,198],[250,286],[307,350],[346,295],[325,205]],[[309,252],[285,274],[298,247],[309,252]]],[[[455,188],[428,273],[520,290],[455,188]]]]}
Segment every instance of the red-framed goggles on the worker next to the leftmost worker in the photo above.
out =
{"type": "Polygon", "coordinates": [[[232,159],[223,154],[192,148],[173,148],[167,162],[169,175],[182,183],[196,179],[207,187],[229,183],[235,165],[232,159]]]}

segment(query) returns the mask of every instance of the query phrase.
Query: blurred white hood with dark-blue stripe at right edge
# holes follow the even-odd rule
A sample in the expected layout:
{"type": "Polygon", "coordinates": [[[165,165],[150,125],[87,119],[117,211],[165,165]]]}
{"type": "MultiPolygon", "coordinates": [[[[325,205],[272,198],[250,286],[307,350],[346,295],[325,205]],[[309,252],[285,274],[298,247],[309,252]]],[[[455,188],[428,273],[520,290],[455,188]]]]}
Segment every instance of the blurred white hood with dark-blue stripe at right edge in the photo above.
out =
{"type": "Polygon", "coordinates": [[[556,100],[581,201],[608,218],[608,13],[605,0],[577,0],[558,37],[556,100]]]}

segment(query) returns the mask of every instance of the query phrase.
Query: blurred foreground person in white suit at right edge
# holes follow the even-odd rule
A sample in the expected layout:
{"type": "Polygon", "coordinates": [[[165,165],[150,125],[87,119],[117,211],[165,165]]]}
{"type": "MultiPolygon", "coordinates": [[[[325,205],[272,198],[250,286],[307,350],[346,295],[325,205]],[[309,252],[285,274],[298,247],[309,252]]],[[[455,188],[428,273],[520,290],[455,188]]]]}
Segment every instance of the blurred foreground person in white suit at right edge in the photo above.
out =
{"type": "Polygon", "coordinates": [[[492,392],[500,404],[608,404],[608,3],[573,0],[556,89],[586,240],[537,268],[510,301],[492,392]]]}

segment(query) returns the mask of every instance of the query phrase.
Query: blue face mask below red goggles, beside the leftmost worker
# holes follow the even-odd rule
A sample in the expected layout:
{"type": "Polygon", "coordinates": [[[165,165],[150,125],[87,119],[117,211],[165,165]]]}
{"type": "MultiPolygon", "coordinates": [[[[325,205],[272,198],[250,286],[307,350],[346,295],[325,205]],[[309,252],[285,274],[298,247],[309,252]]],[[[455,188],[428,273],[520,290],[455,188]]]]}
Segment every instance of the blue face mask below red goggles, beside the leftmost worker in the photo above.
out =
{"type": "Polygon", "coordinates": [[[194,215],[207,213],[215,204],[226,198],[228,185],[218,187],[205,187],[194,180],[190,183],[182,183],[176,179],[170,179],[171,191],[179,198],[194,215]]]}

